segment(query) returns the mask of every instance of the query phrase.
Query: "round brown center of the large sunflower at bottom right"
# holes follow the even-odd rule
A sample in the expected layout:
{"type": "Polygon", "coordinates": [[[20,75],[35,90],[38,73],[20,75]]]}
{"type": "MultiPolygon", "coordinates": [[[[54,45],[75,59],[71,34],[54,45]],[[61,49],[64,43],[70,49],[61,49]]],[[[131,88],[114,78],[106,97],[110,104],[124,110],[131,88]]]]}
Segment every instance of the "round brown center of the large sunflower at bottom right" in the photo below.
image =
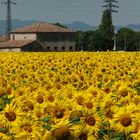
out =
{"type": "Polygon", "coordinates": [[[119,121],[124,127],[127,127],[132,123],[132,119],[127,114],[121,115],[119,121]]]}

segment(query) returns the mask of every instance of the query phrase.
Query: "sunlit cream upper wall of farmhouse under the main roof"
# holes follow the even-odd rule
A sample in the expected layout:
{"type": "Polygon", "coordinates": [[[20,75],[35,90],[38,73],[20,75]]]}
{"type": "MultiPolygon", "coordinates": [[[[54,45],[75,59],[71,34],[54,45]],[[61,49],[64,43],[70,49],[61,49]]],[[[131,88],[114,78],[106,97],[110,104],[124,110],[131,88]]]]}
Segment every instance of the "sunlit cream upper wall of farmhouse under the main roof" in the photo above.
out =
{"type": "Polygon", "coordinates": [[[36,40],[36,34],[11,34],[11,40],[36,40]]]}

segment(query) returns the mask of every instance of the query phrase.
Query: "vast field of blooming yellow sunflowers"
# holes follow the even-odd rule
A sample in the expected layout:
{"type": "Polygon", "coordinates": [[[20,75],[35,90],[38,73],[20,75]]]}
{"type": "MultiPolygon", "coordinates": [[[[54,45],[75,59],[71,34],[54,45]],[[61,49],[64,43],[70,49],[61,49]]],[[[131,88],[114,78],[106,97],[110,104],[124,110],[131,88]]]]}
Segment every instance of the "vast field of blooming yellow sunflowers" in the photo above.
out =
{"type": "Polygon", "coordinates": [[[0,53],[0,140],[140,140],[140,53],[0,53]]]}

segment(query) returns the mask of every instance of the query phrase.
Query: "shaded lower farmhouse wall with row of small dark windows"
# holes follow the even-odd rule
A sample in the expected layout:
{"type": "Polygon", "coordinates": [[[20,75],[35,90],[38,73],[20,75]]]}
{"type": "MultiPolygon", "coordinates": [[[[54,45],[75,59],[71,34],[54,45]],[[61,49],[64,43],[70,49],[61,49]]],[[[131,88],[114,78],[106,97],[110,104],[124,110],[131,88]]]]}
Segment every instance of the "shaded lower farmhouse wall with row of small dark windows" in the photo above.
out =
{"type": "Polygon", "coordinates": [[[65,48],[64,51],[75,51],[75,42],[43,42],[42,45],[46,51],[56,51],[55,47],[57,47],[57,51],[63,51],[62,47],[65,48]],[[48,47],[49,50],[47,49],[48,47]],[[72,47],[72,50],[70,50],[70,47],[72,47]]]}

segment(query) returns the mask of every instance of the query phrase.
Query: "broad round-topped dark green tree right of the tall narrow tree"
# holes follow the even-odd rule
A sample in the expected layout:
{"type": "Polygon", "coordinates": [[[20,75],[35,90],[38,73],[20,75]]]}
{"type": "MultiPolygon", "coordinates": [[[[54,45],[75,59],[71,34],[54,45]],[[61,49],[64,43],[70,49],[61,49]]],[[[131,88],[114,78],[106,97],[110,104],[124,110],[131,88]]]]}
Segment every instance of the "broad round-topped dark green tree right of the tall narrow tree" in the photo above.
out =
{"type": "Polygon", "coordinates": [[[121,28],[117,34],[117,50],[136,51],[136,34],[129,28],[121,28]]]}

